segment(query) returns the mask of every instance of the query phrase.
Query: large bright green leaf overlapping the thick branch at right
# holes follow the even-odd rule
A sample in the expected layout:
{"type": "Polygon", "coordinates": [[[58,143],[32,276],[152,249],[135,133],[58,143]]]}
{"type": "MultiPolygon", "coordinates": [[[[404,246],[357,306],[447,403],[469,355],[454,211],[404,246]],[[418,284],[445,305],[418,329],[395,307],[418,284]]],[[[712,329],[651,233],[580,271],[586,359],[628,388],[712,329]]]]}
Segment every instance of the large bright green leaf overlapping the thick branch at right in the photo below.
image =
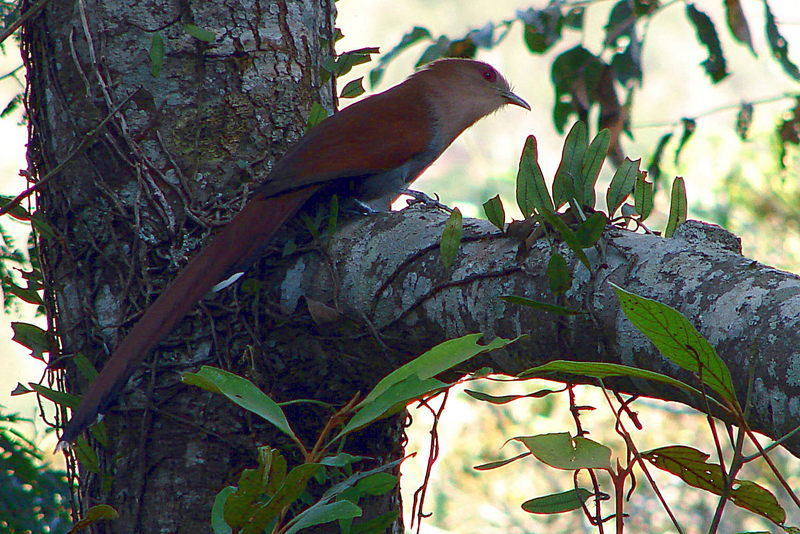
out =
{"type": "Polygon", "coordinates": [[[706,339],[680,312],[611,284],[633,325],[672,363],[694,373],[729,405],[737,403],[730,371],[706,339]]]}

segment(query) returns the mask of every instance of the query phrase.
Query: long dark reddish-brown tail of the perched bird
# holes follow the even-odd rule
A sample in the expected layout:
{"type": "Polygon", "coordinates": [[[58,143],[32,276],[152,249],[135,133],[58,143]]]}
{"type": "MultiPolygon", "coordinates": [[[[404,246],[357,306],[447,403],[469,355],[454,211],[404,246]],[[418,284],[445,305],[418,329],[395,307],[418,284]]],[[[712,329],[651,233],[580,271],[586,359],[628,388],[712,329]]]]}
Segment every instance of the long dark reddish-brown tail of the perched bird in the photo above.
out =
{"type": "Polygon", "coordinates": [[[312,186],[277,197],[257,195],[218,231],[147,308],[116,348],[64,427],[56,450],[75,441],[122,389],[150,349],[232,268],[261,252],[317,189],[312,186]]]}

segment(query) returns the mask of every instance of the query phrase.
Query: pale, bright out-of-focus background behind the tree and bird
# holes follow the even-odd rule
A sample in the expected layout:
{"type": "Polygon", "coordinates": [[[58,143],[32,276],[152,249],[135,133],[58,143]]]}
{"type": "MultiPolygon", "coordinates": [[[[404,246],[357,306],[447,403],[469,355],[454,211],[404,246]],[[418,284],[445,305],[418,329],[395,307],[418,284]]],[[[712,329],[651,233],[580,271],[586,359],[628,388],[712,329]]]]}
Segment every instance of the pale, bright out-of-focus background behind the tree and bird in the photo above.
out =
{"type": "MultiPolygon", "coordinates": [[[[738,4],[738,2],[733,2],[738,4]]],[[[551,67],[565,50],[581,43],[599,53],[606,36],[604,27],[614,2],[571,2],[585,6],[582,30],[564,28],[562,40],[543,54],[532,54],[526,46],[523,26],[509,26],[509,34],[490,50],[479,49],[477,58],[494,65],[512,83],[515,92],[533,107],[532,112],[507,108],[483,120],[462,135],[445,155],[415,183],[415,188],[438,194],[442,201],[458,206],[465,216],[483,217],[483,202],[500,194],[509,217],[519,217],[512,208],[514,180],[520,151],[527,135],[539,142],[539,158],[545,177],[552,179],[561,155],[563,135],[553,124],[554,90],[551,67]]],[[[337,2],[337,25],[344,38],[337,43],[337,52],[376,46],[386,53],[397,45],[413,27],[429,30],[434,39],[446,35],[455,40],[471,29],[487,23],[495,25],[518,17],[518,10],[542,9],[544,2],[520,0],[341,0],[337,2]]],[[[673,133],[661,159],[663,177],[658,184],[651,228],[664,226],[669,209],[668,194],[672,178],[683,176],[689,199],[689,217],[720,224],[742,237],[744,254],[761,262],[791,272],[800,272],[798,247],[798,167],[797,149],[789,145],[781,152],[776,134],[783,121],[791,122],[794,99],[787,95],[800,93],[800,83],[787,75],[770,52],[765,37],[765,10],[762,2],[743,0],[741,7],[749,23],[752,47],[734,39],[726,24],[722,0],[703,2],[699,6],[713,21],[727,60],[729,75],[713,84],[700,65],[708,52],[698,43],[695,27],[686,16],[683,2],[663,2],[657,14],[647,23],[647,37],[642,49],[643,77],[636,88],[630,111],[633,139],[622,137],[622,151],[631,159],[642,158],[643,168],[652,159],[659,139],[673,133]],[[737,135],[737,113],[743,102],[753,102],[754,112],[747,139],[737,135]],[[683,118],[696,119],[696,131],[680,151],[678,139],[683,133],[683,118]]],[[[800,62],[800,9],[797,0],[769,0],[789,57],[800,62]]],[[[500,33],[499,31],[497,33],[500,33]]],[[[402,81],[431,41],[408,47],[391,61],[376,87],[381,91],[402,81]]],[[[0,108],[23,90],[24,72],[19,53],[12,40],[5,43],[0,56],[0,108]]],[[[376,59],[379,59],[377,56],[376,59]]],[[[369,77],[375,61],[356,67],[341,79],[339,88],[359,76],[369,77]]],[[[620,93],[620,98],[624,94],[620,93]]],[[[347,105],[347,100],[340,102],[347,105]]],[[[597,112],[590,112],[596,124],[597,112]]],[[[570,119],[571,123],[574,118],[570,119]]],[[[590,127],[590,135],[596,127],[590,127]]],[[[25,186],[19,177],[25,161],[26,129],[18,108],[0,120],[0,194],[16,195],[25,186]]],[[[599,191],[613,171],[611,165],[601,175],[599,191]]],[[[598,198],[604,198],[599,194],[598,198]]],[[[28,228],[8,217],[3,220],[8,238],[24,248],[28,228]]],[[[12,321],[39,322],[32,306],[12,307],[0,323],[0,350],[6,372],[0,374],[0,404],[6,413],[19,413],[31,422],[15,428],[47,452],[55,440],[44,432],[38,419],[39,407],[32,395],[10,396],[18,382],[36,382],[43,374],[42,362],[32,358],[27,349],[11,341],[12,321]]],[[[470,384],[492,394],[528,393],[547,387],[561,389],[559,384],[525,382],[503,384],[482,382],[470,384]]],[[[463,389],[463,388],[462,388],[463,389]]],[[[590,437],[613,444],[613,417],[608,413],[602,393],[595,388],[577,388],[579,404],[598,409],[584,415],[582,421],[591,431],[590,437]]],[[[492,406],[470,400],[459,390],[451,392],[444,416],[439,422],[440,457],[433,468],[427,491],[426,519],[422,532],[596,532],[579,512],[559,516],[534,516],[520,504],[528,499],[572,487],[570,473],[558,472],[531,460],[514,463],[492,471],[475,471],[472,467],[500,458],[512,457],[523,449],[516,443],[504,446],[508,438],[543,432],[574,433],[566,395],[553,394],[542,399],[525,399],[504,406],[492,406]],[[479,439],[478,439],[479,437],[479,439]]],[[[684,443],[705,452],[713,450],[709,430],[703,416],[678,405],[638,401],[635,409],[644,422],[644,431],[634,433],[640,450],[684,443]]],[[[409,430],[408,451],[417,456],[404,465],[402,485],[408,510],[414,490],[424,476],[430,440],[431,418],[425,410],[414,410],[415,425],[409,430]]],[[[630,430],[630,429],[629,429],[630,430]]],[[[620,448],[620,451],[624,451],[620,448]]],[[[793,487],[800,487],[800,465],[785,455],[777,462],[793,487]]],[[[45,454],[46,461],[58,467],[60,459],[45,454]]],[[[758,466],[749,466],[745,475],[753,480],[777,487],[758,466]]],[[[716,500],[688,488],[674,477],[657,473],[659,487],[673,511],[679,515],[686,532],[705,532],[716,500]]],[[[601,484],[604,481],[601,480],[601,484]]],[[[660,505],[646,488],[643,479],[632,501],[626,506],[631,515],[629,532],[673,532],[660,505]]],[[[607,484],[607,481],[605,481],[607,484]]],[[[605,486],[610,490],[610,485],[605,486]]],[[[791,509],[791,506],[788,507],[791,509]]],[[[407,511],[408,511],[407,510],[407,511]]],[[[411,516],[406,515],[406,524],[411,516]]],[[[800,522],[795,512],[790,524],[800,522]]],[[[726,508],[721,532],[743,530],[770,531],[770,523],[735,506],[726,508]]]]}

